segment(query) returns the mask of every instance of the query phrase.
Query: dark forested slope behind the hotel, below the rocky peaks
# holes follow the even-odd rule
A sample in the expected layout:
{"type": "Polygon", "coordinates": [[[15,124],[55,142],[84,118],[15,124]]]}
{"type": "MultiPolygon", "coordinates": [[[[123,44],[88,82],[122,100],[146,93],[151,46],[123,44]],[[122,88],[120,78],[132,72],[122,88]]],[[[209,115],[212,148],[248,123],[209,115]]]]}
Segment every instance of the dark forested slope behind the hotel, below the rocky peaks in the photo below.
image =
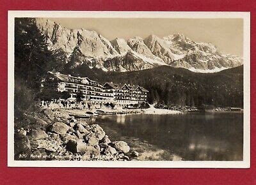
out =
{"type": "Polygon", "coordinates": [[[101,83],[141,85],[148,89],[150,103],[166,105],[243,107],[243,66],[218,73],[194,73],[184,68],[159,66],[147,70],[104,72],[83,64],[72,75],[89,77],[101,83]]]}

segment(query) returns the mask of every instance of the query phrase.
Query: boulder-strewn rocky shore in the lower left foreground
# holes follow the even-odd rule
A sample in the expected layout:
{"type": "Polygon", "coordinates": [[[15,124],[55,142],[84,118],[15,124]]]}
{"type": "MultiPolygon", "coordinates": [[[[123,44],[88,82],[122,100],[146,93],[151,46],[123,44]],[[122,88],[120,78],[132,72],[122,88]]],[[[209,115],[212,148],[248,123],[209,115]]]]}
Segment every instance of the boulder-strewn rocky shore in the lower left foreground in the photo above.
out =
{"type": "Polygon", "coordinates": [[[64,110],[44,109],[15,120],[15,160],[127,161],[139,156],[111,141],[99,124],[77,121],[64,110]]]}

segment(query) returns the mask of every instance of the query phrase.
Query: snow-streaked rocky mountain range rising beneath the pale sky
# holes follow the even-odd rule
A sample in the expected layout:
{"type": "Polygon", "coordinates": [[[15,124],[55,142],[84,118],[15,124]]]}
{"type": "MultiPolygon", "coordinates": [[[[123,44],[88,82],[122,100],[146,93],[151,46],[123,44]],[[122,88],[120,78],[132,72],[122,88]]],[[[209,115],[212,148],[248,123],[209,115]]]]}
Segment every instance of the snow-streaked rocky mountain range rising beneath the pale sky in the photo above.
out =
{"type": "Polygon", "coordinates": [[[212,72],[243,64],[243,59],[223,55],[211,43],[198,43],[182,34],[109,41],[95,31],[70,30],[45,18],[36,18],[36,25],[51,49],[62,49],[67,54],[70,67],[85,63],[104,71],[137,71],[168,65],[212,72]]]}

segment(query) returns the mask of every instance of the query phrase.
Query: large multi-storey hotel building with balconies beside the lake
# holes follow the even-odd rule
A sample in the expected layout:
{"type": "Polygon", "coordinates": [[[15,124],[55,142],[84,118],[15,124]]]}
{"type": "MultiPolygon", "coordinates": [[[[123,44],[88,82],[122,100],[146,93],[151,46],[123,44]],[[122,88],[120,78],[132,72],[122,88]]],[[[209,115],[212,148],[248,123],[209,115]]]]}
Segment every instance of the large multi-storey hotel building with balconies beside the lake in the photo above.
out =
{"type": "Polygon", "coordinates": [[[83,101],[90,105],[113,105],[124,107],[125,105],[138,104],[147,101],[147,89],[139,85],[118,85],[106,82],[104,85],[90,80],[88,77],[72,77],[61,73],[53,74],[58,79],[58,91],[67,91],[70,94],[68,100],[75,101],[77,93],[83,93],[83,101]]]}

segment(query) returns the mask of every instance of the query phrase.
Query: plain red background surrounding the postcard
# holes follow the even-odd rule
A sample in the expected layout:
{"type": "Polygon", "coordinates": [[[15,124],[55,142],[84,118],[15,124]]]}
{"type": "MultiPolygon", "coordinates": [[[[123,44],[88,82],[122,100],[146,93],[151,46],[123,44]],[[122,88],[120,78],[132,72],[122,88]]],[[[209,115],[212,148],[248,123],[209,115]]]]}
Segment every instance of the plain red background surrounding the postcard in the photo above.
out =
{"type": "MultiPolygon", "coordinates": [[[[7,1],[0,6],[0,184],[256,184],[255,78],[256,1],[241,0],[40,0],[7,1]],[[8,168],[7,167],[7,11],[116,10],[116,11],[251,11],[251,168],[8,168]]],[[[234,29],[236,29],[234,27],[234,29]]]]}

